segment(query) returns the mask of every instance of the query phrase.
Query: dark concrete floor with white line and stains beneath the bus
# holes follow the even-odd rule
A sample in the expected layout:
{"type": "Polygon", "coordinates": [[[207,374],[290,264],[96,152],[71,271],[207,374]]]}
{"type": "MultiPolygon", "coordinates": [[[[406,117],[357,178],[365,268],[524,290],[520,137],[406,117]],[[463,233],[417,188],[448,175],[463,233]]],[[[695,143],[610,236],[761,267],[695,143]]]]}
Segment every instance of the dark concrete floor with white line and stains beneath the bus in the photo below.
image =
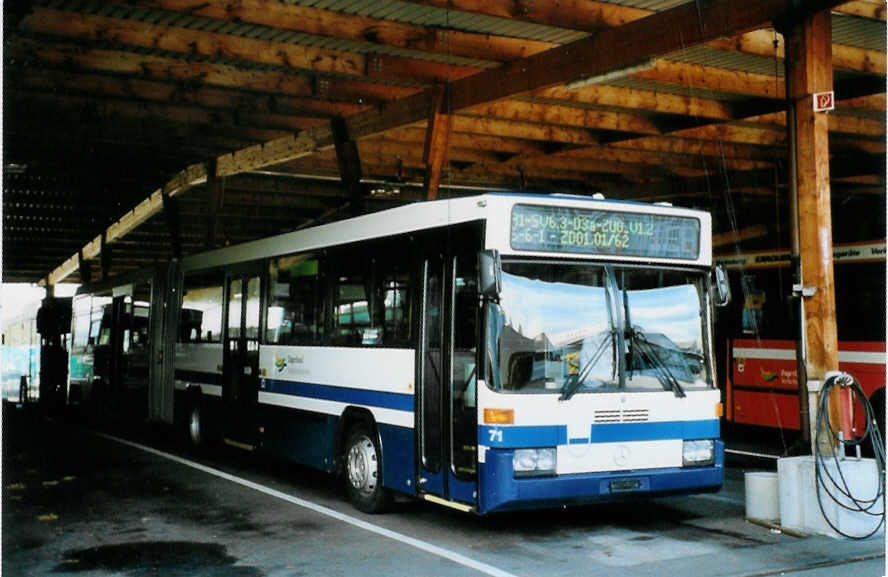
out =
{"type": "Polygon", "coordinates": [[[136,440],[232,478],[4,411],[3,575],[885,574],[882,537],[800,539],[746,522],[743,466],[716,495],[485,518],[408,501],[368,516],[327,475],[136,440]]]}

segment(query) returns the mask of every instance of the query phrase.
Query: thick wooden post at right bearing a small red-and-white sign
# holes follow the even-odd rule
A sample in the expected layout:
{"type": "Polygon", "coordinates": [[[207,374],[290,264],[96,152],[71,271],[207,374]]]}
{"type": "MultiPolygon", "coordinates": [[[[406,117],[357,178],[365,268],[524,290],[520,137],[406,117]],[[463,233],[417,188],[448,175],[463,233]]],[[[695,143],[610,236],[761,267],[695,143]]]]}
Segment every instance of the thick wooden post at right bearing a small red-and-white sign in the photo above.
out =
{"type": "MultiPolygon", "coordinates": [[[[838,370],[838,335],[832,256],[829,185],[829,116],[814,112],[815,93],[833,89],[830,13],[817,12],[791,24],[788,34],[789,95],[795,114],[794,155],[807,380],[823,382],[838,370]]],[[[802,375],[800,375],[800,378],[802,375]]],[[[842,422],[841,392],[830,398],[830,419],[842,422]]],[[[816,415],[812,416],[816,419],[816,415]]]]}

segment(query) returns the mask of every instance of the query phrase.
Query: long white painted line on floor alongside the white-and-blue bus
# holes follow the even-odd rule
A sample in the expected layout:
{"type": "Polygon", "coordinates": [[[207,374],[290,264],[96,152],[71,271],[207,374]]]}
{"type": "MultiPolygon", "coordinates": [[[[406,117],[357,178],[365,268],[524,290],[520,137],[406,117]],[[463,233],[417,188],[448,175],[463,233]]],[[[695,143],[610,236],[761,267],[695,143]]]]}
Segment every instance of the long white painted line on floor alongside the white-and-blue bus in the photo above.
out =
{"type": "Polygon", "coordinates": [[[281,491],[277,491],[275,489],[271,489],[270,487],[266,487],[264,485],[260,485],[259,483],[254,483],[253,481],[248,481],[247,479],[243,479],[241,477],[236,477],[224,471],[220,471],[218,469],[214,469],[213,467],[208,467],[206,465],[201,465],[200,463],[196,463],[194,461],[190,461],[188,459],[184,459],[177,455],[172,455],[170,453],[166,453],[164,451],[160,451],[158,449],[154,449],[152,447],[148,447],[146,445],[142,445],[139,443],[134,443],[133,441],[127,441],[126,439],[121,439],[118,437],[114,437],[112,435],[106,435],[104,433],[95,433],[99,437],[109,439],[111,441],[115,441],[117,443],[121,443],[123,445],[127,445],[129,447],[134,447],[141,451],[145,451],[146,453],[151,453],[152,455],[157,455],[158,457],[163,457],[164,459],[168,459],[170,461],[174,461],[176,463],[185,465],[187,467],[191,467],[192,469],[197,469],[198,471],[203,471],[204,473],[209,473],[210,475],[215,475],[221,479],[225,479],[226,481],[231,481],[232,483],[237,483],[243,487],[247,487],[248,489],[253,489],[254,491],[259,491],[260,493],[264,493],[271,497],[276,497],[283,501],[287,501],[288,503],[292,503],[299,507],[303,507],[305,509],[309,509],[316,513],[320,513],[321,515],[326,515],[327,517],[332,517],[338,521],[342,521],[343,523],[348,523],[349,525],[353,525],[355,527],[364,529],[365,531],[370,531],[372,533],[376,533],[377,535],[382,535],[383,537],[388,537],[389,539],[393,539],[400,543],[404,543],[405,545],[409,545],[411,547],[415,547],[421,551],[425,551],[426,553],[431,553],[432,555],[437,555],[438,557],[442,557],[444,559],[448,559],[453,561],[454,563],[458,563],[464,567],[469,567],[471,569],[475,569],[485,575],[491,575],[492,577],[516,577],[514,574],[509,573],[507,571],[503,571],[502,569],[497,569],[491,565],[486,563],[482,563],[480,561],[475,561],[474,559],[470,559],[465,555],[461,555],[460,553],[456,553],[455,551],[450,551],[448,549],[444,549],[442,547],[438,547],[437,545],[432,545],[431,543],[427,543],[426,541],[422,541],[420,539],[415,539],[413,537],[408,537],[407,535],[403,535],[396,531],[392,531],[390,529],[386,529],[384,527],[380,527],[378,525],[374,525],[373,523],[368,523],[366,521],[362,521],[356,517],[352,517],[350,515],[346,515],[345,513],[340,513],[339,511],[335,511],[330,509],[329,507],[324,507],[323,505],[318,505],[317,503],[312,503],[311,501],[306,501],[305,499],[300,499],[299,497],[294,497],[292,495],[287,495],[286,493],[282,493],[281,491]]]}

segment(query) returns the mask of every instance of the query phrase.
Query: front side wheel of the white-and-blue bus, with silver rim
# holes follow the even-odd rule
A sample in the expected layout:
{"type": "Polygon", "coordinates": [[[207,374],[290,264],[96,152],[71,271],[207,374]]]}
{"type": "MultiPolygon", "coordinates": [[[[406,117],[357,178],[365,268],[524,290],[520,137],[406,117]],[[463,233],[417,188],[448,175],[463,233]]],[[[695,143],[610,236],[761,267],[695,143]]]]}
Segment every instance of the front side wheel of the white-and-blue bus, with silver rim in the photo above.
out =
{"type": "Polygon", "coordinates": [[[364,513],[382,513],[391,495],[382,486],[382,451],[375,428],[359,422],[348,430],[343,454],[345,488],[352,505],[364,513]]]}

